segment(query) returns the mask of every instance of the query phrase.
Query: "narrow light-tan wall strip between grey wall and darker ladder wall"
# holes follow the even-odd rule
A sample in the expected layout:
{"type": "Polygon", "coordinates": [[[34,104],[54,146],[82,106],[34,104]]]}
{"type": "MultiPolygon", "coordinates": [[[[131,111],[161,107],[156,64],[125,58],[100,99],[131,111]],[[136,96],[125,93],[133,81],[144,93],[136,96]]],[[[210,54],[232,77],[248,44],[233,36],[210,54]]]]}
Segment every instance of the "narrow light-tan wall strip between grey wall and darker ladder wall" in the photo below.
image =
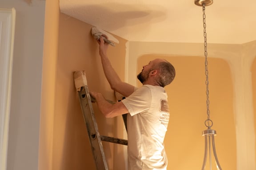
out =
{"type": "Polygon", "coordinates": [[[39,170],[52,170],[52,139],[58,58],[59,1],[47,0],[44,22],[44,57],[40,114],[39,170]]]}

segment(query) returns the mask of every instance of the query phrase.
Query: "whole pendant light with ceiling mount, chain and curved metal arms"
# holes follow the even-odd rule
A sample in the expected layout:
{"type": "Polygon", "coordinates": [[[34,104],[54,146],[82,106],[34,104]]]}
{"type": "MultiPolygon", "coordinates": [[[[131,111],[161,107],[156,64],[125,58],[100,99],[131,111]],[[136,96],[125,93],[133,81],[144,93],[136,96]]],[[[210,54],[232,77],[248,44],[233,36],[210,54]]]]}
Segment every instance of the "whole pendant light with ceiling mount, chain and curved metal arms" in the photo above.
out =
{"type": "MultiPolygon", "coordinates": [[[[212,130],[211,127],[213,125],[212,120],[210,119],[210,110],[209,110],[209,88],[208,88],[208,61],[207,61],[207,35],[206,35],[206,23],[205,23],[205,6],[211,5],[213,3],[212,0],[195,0],[195,4],[198,6],[203,7],[203,23],[204,23],[204,57],[205,57],[205,75],[206,75],[206,106],[207,106],[207,119],[205,120],[204,124],[207,127],[206,130],[202,132],[204,136],[204,161],[202,170],[214,170],[212,169],[214,166],[217,170],[222,170],[220,167],[220,163],[217,158],[214,136],[216,135],[216,130],[212,130]],[[213,157],[212,152],[214,155],[216,165],[213,165],[213,157]]],[[[215,168],[215,169],[216,169],[215,168]]]]}

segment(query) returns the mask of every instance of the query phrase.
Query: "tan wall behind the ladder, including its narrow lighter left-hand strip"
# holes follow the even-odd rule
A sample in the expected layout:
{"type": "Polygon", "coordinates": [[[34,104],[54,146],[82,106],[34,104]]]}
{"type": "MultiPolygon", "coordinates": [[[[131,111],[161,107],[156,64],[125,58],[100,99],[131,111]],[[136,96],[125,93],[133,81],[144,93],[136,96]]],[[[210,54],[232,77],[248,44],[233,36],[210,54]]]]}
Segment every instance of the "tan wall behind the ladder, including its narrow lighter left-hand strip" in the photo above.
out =
{"type": "MultiPolygon", "coordinates": [[[[95,170],[73,72],[87,72],[90,91],[114,100],[100,63],[98,44],[89,24],[59,12],[58,1],[47,1],[40,120],[39,170],[95,170]]],[[[109,47],[113,67],[124,79],[124,39],[109,47]]],[[[105,119],[94,104],[100,134],[122,138],[122,119],[105,119]]],[[[125,147],[103,142],[109,169],[124,169],[125,147]],[[119,162],[119,163],[114,163],[119,162]]]]}

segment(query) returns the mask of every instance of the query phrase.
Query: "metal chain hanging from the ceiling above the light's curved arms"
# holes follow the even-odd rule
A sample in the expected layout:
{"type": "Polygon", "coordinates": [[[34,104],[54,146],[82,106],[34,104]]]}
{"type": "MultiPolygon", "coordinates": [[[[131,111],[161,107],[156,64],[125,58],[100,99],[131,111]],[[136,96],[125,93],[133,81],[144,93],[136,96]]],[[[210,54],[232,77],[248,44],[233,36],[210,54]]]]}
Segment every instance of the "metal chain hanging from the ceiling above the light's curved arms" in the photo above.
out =
{"type": "Polygon", "coordinates": [[[203,4],[203,23],[204,23],[204,57],[205,57],[205,76],[206,76],[206,81],[205,81],[205,84],[206,84],[206,107],[207,107],[207,120],[205,121],[205,126],[210,128],[212,127],[212,120],[210,119],[210,109],[209,109],[209,104],[210,104],[210,101],[209,101],[209,80],[208,80],[208,61],[207,61],[207,56],[208,56],[208,53],[207,53],[207,34],[206,34],[206,23],[205,23],[205,4],[203,4]]]}

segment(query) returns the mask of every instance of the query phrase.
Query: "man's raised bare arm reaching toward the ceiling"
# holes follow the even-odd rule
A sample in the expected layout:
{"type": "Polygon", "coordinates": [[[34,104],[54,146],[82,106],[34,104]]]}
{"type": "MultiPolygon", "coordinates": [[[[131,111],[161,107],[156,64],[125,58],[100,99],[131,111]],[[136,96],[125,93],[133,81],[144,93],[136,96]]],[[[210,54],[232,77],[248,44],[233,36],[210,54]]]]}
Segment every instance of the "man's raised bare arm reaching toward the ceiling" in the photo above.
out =
{"type": "Polygon", "coordinates": [[[132,92],[134,91],[134,86],[121,81],[121,79],[116,74],[116,71],[113,69],[107,57],[108,43],[104,43],[103,37],[100,37],[100,40],[98,40],[98,43],[100,45],[99,53],[100,53],[104,74],[111,88],[126,97],[131,95],[132,92]]]}

